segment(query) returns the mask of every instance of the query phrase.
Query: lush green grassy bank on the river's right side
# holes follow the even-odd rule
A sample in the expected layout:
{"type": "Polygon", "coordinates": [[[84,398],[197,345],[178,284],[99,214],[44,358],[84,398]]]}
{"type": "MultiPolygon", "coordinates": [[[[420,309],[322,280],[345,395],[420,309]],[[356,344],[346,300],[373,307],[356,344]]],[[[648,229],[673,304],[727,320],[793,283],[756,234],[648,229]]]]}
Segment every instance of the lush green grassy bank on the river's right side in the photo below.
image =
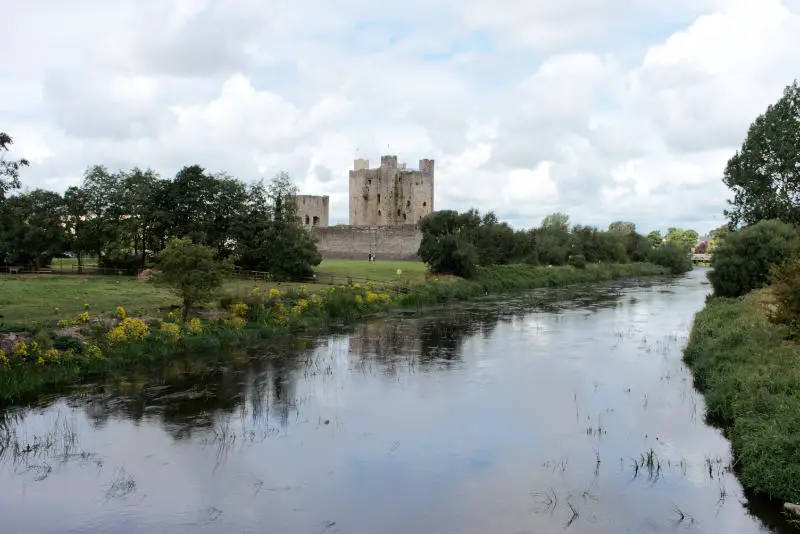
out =
{"type": "Polygon", "coordinates": [[[800,346],[767,320],[766,294],[712,298],[694,321],[684,359],[721,426],[742,485],[800,501],[800,346]]]}

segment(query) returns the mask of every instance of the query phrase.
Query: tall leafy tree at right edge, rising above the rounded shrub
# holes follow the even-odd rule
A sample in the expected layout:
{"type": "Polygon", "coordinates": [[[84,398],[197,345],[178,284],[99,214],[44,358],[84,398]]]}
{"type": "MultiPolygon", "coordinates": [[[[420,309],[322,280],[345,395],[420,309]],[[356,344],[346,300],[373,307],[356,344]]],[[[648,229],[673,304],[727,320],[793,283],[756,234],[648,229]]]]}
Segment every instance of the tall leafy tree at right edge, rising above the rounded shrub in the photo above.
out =
{"type": "Polygon", "coordinates": [[[731,228],[774,219],[800,223],[800,85],[750,125],[741,148],[728,161],[723,182],[733,191],[725,210],[731,228]]]}

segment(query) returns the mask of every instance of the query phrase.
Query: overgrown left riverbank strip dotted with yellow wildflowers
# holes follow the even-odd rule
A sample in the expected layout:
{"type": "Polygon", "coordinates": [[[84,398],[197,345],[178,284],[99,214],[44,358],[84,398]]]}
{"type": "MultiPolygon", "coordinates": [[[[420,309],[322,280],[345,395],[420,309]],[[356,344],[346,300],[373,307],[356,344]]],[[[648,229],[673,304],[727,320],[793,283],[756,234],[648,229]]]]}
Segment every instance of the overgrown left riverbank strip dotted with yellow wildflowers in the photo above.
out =
{"type": "Polygon", "coordinates": [[[0,338],[0,401],[21,399],[91,373],[158,363],[173,354],[219,350],[247,338],[352,323],[393,308],[667,273],[664,267],[646,263],[582,269],[505,265],[479,268],[469,280],[433,276],[424,282],[386,286],[353,283],[313,294],[303,286],[284,292],[254,289],[248,295],[223,296],[217,308],[188,321],[175,312],[161,319],[128,317],[124,306],[111,317],[92,316],[87,305],[81,314],[60,320],[52,329],[40,325],[34,332],[0,338]]]}

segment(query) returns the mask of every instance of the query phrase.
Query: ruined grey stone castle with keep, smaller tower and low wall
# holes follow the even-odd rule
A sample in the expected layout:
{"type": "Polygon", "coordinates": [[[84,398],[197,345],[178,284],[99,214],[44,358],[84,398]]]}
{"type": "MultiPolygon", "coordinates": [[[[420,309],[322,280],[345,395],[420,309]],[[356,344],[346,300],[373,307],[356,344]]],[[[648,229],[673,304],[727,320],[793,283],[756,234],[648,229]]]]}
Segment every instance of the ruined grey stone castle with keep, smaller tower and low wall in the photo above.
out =
{"type": "Polygon", "coordinates": [[[381,165],[357,159],[350,171],[350,221],[330,226],[330,197],[298,195],[302,224],[317,238],[324,258],[416,260],[422,233],[417,224],[433,213],[432,159],[422,159],[418,169],[397,163],[397,156],[381,156],[381,165]]]}

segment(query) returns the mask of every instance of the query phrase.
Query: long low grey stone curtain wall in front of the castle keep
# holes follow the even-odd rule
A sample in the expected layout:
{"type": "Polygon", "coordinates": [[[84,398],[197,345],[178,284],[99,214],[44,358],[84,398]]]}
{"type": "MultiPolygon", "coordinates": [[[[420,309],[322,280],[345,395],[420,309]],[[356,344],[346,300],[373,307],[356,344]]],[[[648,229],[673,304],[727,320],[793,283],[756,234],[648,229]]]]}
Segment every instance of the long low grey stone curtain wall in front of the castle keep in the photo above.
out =
{"type": "Polygon", "coordinates": [[[366,260],[419,260],[422,232],[416,225],[330,226],[314,228],[317,249],[323,258],[366,260]]]}

